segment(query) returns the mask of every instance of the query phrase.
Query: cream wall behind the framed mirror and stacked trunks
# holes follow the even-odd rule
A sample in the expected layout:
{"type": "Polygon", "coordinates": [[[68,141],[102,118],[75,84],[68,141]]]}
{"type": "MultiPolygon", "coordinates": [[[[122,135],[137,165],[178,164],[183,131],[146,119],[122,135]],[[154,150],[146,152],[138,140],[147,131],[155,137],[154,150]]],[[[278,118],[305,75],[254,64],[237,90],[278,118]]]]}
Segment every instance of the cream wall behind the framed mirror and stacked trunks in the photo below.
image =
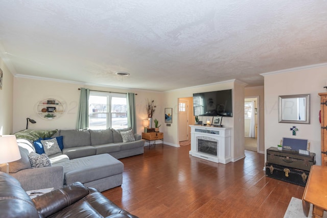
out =
{"type": "Polygon", "coordinates": [[[315,66],[305,69],[294,69],[282,74],[266,74],[265,81],[265,151],[277,147],[283,137],[308,139],[311,142],[310,152],[316,153],[317,165],[321,165],[320,96],[326,92],[327,66],[315,66]],[[278,96],[290,94],[311,94],[310,124],[278,123],[278,96]],[[292,135],[290,128],[296,126],[298,132],[292,135]]]}

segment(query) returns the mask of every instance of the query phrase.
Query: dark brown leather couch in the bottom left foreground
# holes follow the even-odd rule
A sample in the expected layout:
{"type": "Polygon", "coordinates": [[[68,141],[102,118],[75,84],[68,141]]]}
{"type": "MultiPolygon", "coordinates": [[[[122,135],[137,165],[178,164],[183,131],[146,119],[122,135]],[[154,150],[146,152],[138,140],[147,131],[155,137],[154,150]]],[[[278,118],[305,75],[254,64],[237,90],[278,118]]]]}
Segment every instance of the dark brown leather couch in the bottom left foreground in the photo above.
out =
{"type": "Polygon", "coordinates": [[[20,183],[3,172],[0,172],[0,211],[1,217],[137,218],[80,182],[31,200],[20,183]]]}

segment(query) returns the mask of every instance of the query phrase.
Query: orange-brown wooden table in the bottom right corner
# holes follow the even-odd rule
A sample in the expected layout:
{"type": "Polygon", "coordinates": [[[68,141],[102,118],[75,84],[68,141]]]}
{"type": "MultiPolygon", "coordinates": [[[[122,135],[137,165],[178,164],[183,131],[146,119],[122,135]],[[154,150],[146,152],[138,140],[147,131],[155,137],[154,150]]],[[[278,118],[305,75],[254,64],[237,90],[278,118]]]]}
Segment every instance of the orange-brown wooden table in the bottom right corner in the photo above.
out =
{"type": "Polygon", "coordinates": [[[302,197],[303,212],[309,215],[313,204],[312,217],[322,217],[327,210],[327,167],[313,165],[302,197]]]}

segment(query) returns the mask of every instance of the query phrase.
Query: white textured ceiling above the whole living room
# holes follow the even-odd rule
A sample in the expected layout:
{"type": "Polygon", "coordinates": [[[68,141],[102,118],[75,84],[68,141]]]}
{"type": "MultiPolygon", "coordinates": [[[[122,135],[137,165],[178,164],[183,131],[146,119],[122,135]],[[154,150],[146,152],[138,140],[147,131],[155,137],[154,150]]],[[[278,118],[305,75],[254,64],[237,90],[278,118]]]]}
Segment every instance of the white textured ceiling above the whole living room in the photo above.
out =
{"type": "Polygon", "coordinates": [[[327,62],[327,1],[2,0],[15,76],[173,90],[327,62]],[[115,76],[127,71],[130,77],[115,76]]]}

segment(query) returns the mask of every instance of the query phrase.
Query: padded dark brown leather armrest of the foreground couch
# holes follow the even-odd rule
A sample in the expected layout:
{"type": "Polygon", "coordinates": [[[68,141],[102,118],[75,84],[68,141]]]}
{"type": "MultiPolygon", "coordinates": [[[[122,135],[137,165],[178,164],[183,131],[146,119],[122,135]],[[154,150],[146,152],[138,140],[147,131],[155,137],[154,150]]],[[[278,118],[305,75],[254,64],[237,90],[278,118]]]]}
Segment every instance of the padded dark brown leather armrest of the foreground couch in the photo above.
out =
{"type": "Polygon", "coordinates": [[[88,189],[80,182],[45,193],[32,199],[40,217],[48,217],[76,203],[88,195],[88,189]]]}

